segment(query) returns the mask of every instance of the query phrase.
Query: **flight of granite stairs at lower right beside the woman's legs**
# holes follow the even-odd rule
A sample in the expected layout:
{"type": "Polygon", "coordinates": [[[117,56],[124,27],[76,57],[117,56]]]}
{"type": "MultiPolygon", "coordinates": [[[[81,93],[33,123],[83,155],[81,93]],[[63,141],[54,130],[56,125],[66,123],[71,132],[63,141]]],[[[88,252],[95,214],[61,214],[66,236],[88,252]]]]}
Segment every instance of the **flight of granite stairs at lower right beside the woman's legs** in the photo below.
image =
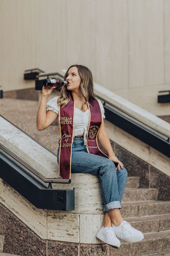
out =
{"type": "Polygon", "coordinates": [[[124,191],[121,214],[133,228],[143,232],[144,239],[138,243],[129,243],[120,239],[119,250],[109,246],[109,255],[144,256],[161,252],[159,255],[168,256],[170,255],[168,252],[170,251],[170,201],[157,201],[158,190],[137,188],[138,181],[137,177],[128,177],[128,188],[126,187],[124,191]],[[142,198],[143,200],[140,201],[142,198]],[[167,253],[163,253],[166,251],[167,253]]]}

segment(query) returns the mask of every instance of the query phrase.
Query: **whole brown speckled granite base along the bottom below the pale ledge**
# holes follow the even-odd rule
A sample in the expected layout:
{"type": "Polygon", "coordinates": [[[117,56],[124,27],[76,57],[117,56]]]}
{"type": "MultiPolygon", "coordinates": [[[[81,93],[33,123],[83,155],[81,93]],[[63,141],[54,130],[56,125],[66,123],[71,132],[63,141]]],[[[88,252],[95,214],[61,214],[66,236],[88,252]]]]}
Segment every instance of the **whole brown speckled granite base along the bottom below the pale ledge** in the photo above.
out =
{"type": "Polygon", "coordinates": [[[106,244],[86,245],[41,239],[2,204],[0,235],[4,235],[3,252],[20,256],[108,255],[106,244]]]}

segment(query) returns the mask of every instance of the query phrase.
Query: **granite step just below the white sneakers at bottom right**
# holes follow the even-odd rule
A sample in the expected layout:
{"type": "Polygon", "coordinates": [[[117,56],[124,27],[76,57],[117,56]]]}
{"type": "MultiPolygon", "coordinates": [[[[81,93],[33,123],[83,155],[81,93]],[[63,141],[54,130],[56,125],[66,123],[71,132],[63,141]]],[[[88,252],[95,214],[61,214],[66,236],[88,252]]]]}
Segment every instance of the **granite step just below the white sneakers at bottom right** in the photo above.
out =
{"type": "Polygon", "coordinates": [[[167,252],[170,250],[170,230],[144,234],[143,240],[137,243],[129,243],[122,239],[120,241],[119,250],[109,246],[110,256],[144,256],[149,253],[167,252]]]}

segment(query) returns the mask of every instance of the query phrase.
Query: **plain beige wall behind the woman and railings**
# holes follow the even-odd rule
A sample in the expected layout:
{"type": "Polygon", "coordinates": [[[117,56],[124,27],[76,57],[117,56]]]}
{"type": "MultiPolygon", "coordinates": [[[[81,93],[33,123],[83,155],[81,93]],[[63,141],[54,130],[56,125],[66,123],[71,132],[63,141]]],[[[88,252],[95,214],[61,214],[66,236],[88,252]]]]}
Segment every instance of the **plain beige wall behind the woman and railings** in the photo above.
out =
{"type": "Polygon", "coordinates": [[[170,89],[170,0],[0,0],[0,82],[34,87],[25,69],[88,66],[94,80],[156,115],[170,89]]]}

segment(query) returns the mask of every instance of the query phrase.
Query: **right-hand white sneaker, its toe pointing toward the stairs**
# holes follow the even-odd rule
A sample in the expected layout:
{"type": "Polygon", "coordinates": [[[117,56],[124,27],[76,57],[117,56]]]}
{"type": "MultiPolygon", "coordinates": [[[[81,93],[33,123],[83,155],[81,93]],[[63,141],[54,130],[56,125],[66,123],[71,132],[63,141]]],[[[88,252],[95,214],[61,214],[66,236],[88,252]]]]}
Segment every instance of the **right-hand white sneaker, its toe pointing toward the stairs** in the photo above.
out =
{"type": "Polygon", "coordinates": [[[127,242],[139,242],[144,238],[143,233],[135,228],[132,228],[131,224],[126,220],[122,221],[119,226],[114,226],[112,223],[112,227],[116,236],[127,242]]]}

